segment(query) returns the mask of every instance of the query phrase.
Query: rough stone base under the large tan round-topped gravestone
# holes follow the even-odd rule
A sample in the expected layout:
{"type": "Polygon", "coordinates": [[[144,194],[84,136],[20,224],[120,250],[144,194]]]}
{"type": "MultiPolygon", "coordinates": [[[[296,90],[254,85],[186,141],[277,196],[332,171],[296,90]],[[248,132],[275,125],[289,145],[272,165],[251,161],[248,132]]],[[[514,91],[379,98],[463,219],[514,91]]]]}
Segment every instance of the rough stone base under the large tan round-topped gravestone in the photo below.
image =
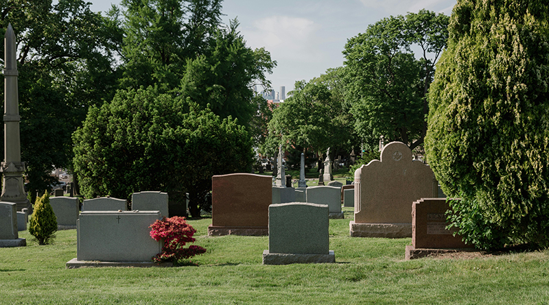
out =
{"type": "Polygon", "coordinates": [[[351,237],[384,237],[402,239],[412,237],[412,223],[355,223],[349,222],[351,237]]]}

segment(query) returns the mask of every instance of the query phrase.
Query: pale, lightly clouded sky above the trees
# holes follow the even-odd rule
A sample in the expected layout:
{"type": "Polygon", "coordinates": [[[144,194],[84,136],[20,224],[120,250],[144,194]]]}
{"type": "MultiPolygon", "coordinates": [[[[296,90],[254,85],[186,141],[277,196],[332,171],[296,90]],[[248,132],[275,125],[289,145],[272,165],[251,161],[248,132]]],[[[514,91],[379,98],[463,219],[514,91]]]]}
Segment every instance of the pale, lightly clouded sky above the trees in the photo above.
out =
{"type": "MultiPolygon", "coordinates": [[[[91,10],[105,12],[119,0],[87,0],[91,10]]],[[[277,61],[268,79],[288,93],[298,80],[309,81],[343,65],[349,38],[388,16],[425,8],[452,14],[457,0],[224,0],[222,21],[237,18],[240,33],[252,49],[265,47],[277,61]]]]}

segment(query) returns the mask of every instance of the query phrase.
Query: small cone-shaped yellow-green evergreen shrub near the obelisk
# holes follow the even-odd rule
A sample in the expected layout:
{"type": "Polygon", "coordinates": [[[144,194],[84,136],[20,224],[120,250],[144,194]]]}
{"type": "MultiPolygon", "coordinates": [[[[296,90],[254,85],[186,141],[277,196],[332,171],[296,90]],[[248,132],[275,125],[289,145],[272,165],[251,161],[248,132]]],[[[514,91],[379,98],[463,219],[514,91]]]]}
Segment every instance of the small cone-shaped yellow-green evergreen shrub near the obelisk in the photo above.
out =
{"type": "Polygon", "coordinates": [[[57,218],[54,209],[49,205],[49,194],[36,198],[34,212],[29,221],[29,233],[36,238],[39,245],[47,245],[55,237],[57,218]]]}

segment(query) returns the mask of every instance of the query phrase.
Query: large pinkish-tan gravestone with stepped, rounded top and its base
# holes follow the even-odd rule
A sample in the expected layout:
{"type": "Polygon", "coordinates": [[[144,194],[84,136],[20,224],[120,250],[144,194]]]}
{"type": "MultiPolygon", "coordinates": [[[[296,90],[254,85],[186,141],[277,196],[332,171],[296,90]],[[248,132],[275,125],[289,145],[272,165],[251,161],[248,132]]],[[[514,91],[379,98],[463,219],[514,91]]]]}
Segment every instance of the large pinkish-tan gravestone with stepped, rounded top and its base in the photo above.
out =
{"type": "Polygon", "coordinates": [[[412,160],[408,146],[388,143],[381,160],[372,160],[355,171],[351,236],[411,237],[412,202],[433,197],[437,185],[430,167],[412,160]]]}

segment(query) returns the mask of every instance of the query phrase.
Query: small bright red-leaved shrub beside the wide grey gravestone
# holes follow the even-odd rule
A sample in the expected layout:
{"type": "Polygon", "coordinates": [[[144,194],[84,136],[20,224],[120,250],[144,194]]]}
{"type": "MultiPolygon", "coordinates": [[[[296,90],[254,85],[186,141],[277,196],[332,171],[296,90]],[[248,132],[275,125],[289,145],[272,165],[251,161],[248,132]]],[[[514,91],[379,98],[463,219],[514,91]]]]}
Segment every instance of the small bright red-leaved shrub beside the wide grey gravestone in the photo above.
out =
{"type": "Polygon", "coordinates": [[[184,248],[187,243],[194,243],[193,238],[196,230],[185,221],[185,217],[162,217],[150,225],[150,236],[155,241],[164,239],[162,253],[152,258],[154,263],[175,262],[206,253],[206,249],[198,245],[190,245],[184,248]]]}

